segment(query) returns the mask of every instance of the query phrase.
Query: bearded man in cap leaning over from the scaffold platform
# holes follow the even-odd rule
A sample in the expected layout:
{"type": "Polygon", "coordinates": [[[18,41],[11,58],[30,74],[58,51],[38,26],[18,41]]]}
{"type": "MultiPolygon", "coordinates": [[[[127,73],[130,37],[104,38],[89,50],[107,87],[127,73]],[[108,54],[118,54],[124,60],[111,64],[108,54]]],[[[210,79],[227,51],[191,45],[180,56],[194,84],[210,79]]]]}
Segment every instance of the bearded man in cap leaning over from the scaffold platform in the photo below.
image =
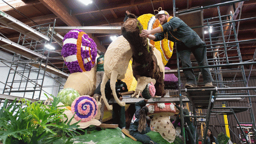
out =
{"type": "MultiPolygon", "coordinates": [[[[160,26],[152,30],[142,30],[140,37],[149,38],[154,41],[168,39],[176,42],[182,68],[192,67],[190,54],[193,53],[199,66],[208,66],[205,43],[197,33],[186,25],[178,17],[170,16],[166,11],[161,10],[155,18],[160,21],[160,26]]],[[[184,69],[187,83],[185,87],[196,87],[196,78],[193,69],[184,69]]],[[[209,68],[202,68],[204,86],[212,87],[212,76],[209,68]]]]}

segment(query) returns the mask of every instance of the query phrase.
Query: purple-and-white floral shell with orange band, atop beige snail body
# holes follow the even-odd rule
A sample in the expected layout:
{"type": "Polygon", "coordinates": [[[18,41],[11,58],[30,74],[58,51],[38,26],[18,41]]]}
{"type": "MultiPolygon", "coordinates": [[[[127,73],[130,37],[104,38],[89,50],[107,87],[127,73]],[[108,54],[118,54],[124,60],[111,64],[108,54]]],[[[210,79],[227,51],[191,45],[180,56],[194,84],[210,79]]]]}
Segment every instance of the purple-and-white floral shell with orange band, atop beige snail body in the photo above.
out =
{"type": "Polygon", "coordinates": [[[70,73],[90,71],[94,67],[96,56],[97,45],[83,30],[70,30],[64,36],[62,57],[70,73]]]}

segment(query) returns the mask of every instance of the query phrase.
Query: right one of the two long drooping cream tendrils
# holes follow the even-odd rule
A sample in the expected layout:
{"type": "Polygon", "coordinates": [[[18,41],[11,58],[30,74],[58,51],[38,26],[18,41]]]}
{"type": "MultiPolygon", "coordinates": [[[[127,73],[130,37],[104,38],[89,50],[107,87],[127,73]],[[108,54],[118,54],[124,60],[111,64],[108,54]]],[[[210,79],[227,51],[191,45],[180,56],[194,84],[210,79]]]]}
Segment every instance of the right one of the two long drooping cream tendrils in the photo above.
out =
{"type": "Polygon", "coordinates": [[[120,106],[125,106],[125,102],[124,101],[120,101],[118,98],[117,98],[117,95],[116,95],[116,79],[117,79],[117,71],[112,71],[111,72],[111,77],[110,77],[110,87],[111,87],[111,90],[112,90],[112,93],[113,93],[113,96],[117,102],[118,105],[120,106]]]}

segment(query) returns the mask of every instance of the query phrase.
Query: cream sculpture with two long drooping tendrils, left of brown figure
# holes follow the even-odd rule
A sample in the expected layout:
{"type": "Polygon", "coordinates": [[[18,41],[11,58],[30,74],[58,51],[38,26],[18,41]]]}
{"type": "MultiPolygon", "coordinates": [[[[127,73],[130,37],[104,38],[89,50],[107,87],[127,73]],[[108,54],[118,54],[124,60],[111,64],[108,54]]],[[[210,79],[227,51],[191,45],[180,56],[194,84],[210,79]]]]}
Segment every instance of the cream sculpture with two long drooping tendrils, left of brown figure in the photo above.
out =
{"type": "Polygon", "coordinates": [[[120,106],[125,106],[125,102],[121,102],[116,95],[116,80],[124,79],[124,75],[132,58],[132,50],[128,41],[123,37],[118,37],[113,41],[106,53],[104,59],[104,76],[101,82],[101,97],[107,106],[108,110],[112,110],[105,96],[105,85],[110,79],[110,87],[114,99],[120,106]]]}

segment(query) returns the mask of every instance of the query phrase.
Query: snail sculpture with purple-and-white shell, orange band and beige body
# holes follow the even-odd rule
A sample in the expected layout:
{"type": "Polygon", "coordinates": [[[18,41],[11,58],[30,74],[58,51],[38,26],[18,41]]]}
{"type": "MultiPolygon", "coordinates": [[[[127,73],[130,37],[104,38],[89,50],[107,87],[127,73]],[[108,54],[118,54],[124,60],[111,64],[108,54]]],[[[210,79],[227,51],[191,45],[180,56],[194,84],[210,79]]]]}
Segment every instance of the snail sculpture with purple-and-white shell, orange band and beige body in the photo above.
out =
{"type": "Polygon", "coordinates": [[[97,45],[83,30],[70,30],[63,39],[62,57],[70,70],[64,88],[79,95],[92,95],[95,90],[97,45]]]}

